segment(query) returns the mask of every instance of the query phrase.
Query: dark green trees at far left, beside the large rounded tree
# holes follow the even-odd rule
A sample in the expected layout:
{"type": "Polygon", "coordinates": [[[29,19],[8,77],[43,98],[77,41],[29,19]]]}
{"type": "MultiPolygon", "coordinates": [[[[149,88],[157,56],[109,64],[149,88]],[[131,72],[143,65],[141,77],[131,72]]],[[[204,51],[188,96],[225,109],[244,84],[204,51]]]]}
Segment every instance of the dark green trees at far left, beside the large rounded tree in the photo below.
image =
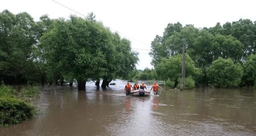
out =
{"type": "Polygon", "coordinates": [[[35,22],[26,12],[0,12],[0,79],[6,84],[26,84],[37,79],[31,59],[36,43],[35,22]]]}

